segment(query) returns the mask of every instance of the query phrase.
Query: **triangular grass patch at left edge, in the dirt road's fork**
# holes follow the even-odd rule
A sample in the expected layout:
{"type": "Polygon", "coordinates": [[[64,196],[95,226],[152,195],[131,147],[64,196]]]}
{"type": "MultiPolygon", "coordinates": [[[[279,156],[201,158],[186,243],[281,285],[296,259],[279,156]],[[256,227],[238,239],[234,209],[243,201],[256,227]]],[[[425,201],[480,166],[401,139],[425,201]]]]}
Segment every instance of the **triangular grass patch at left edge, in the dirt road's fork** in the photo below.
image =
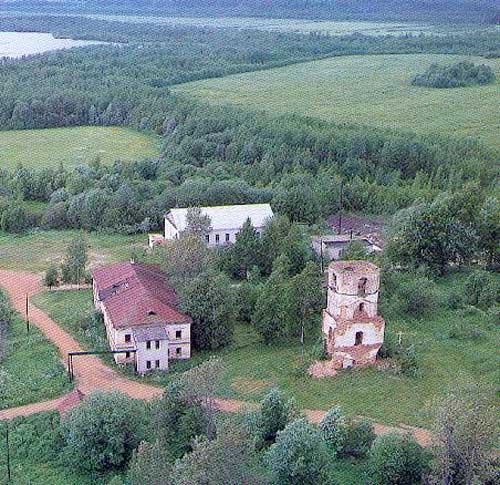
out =
{"type": "MultiPolygon", "coordinates": [[[[54,399],[71,389],[59,354],[36,328],[14,318],[0,362],[0,409],[54,399]]],[[[1,453],[0,453],[1,454],[1,453]]]]}

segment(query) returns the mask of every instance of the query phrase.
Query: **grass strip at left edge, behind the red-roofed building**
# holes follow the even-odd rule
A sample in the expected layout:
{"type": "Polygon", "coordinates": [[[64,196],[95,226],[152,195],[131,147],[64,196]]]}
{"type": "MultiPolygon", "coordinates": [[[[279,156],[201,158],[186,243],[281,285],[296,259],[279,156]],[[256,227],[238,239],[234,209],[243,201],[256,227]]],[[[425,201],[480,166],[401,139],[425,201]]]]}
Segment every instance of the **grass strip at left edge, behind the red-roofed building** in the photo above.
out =
{"type": "MultiPolygon", "coordinates": [[[[42,272],[51,262],[64,258],[76,231],[35,231],[25,235],[0,231],[0,268],[42,272]]],[[[130,257],[132,248],[147,244],[147,235],[87,234],[91,265],[107,264],[130,257]]]]}

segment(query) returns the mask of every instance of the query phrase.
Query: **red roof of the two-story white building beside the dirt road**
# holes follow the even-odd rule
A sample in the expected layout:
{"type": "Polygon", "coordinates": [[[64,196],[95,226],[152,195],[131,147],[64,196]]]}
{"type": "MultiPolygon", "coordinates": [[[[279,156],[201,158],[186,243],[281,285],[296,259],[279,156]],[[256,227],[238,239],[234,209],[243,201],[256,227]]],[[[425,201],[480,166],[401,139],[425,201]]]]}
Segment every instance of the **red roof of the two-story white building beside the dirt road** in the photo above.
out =
{"type": "Polygon", "coordinates": [[[192,323],[177,310],[177,295],[157,266],[118,263],[96,268],[92,276],[114,328],[192,323]]]}

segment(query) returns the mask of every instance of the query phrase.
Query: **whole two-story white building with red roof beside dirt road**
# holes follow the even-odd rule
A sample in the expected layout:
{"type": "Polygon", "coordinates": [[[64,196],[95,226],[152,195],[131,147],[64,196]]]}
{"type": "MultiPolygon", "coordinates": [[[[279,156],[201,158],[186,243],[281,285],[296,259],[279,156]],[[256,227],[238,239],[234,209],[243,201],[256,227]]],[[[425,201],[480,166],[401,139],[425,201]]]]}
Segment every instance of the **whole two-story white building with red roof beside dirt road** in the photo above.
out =
{"type": "Polygon", "coordinates": [[[92,271],[94,305],[103,314],[117,363],[137,372],[167,370],[171,359],[191,357],[191,318],[156,266],[126,262],[92,271]]]}

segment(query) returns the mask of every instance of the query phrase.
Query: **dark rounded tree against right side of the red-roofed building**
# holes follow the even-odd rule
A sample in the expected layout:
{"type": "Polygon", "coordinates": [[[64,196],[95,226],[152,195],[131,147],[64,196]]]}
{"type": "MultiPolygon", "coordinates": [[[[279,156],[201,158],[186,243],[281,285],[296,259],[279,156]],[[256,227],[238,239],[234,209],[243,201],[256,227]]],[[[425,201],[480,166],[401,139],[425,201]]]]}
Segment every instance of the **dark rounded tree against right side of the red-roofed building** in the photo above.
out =
{"type": "Polygon", "coordinates": [[[216,350],[233,337],[237,308],[229,278],[202,273],[180,290],[181,307],[193,319],[192,343],[197,349],[216,350]]]}

